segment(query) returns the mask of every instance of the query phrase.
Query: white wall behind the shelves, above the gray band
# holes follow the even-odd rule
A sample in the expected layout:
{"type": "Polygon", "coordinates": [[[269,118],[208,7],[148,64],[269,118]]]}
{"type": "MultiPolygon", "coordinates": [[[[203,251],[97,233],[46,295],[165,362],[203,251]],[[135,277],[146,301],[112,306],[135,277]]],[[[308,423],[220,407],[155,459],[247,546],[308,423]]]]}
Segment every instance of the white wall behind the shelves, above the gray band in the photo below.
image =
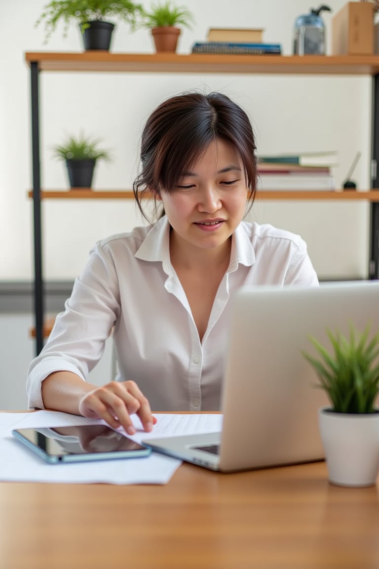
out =
{"type": "MultiPolygon", "coordinates": [[[[151,2],[144,0],[144,6],[151,2]]],[[[291,53],[292,26],[307,13],[308,0],[187,0],[196,26],[184,30],[178,51],[188,53],[210,26],[264,27],[264,39],[291,53]]],[[[344,0],[328,2],[334,12],[344,0]]],[[[82,51],[80,34],[62,28],[43,44],[43,27],[35,28],[45,2],[3,3],[0,22],[0,280],[33,278],[30,76],[25,51],[82,51]],[[6,56],[4,57],[4,54],[6,56]]],[[[331,15],[324,13],[330,52],[331,15]]],[[[112,51],[153,52],[149,32],[131,34],[118,23],[112,51]]],[[[103,139],[114,162],[100,163],[94,187],[130,188],[136,172],[140,132],[148,114],[164,98],[185,89],[222,90],[252,119],[259,153],[337,150],[334,175],[343,182],[358,150],[362,157],[354,179],[369,187],[370,77],[163,75],[41,73],[41,182],[44,188],[67,188],[66,173],[52,159],[51,147],[66,133],[84,130],[103,139]]],[[[301,233],[321,278],[366,277],[369,208],[367,204],[262,202],[253,218],[301,233]]],[[[44,275],[71,279],[82,269],[94,241],[128,230],[141,220],[131,201],[46,200],[43,203],[44,275]]]]}

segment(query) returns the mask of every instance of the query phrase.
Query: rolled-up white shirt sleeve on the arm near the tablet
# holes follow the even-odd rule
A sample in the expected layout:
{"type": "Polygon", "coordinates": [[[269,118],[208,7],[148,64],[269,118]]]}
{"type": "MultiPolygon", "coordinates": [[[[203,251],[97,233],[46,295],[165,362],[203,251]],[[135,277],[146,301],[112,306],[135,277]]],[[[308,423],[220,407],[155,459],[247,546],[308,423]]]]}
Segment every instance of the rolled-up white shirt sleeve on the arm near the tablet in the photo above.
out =
{"type": "Polygon", "coordinates": [[[120,312],[119,284],[111,254],[97,244],[74,282],[65,310],[55,320],[43,350],[28,369],[30,408],[43,409],[41,385],[49,374],[67,371],[82,380],[100,360],[120,312]]]}

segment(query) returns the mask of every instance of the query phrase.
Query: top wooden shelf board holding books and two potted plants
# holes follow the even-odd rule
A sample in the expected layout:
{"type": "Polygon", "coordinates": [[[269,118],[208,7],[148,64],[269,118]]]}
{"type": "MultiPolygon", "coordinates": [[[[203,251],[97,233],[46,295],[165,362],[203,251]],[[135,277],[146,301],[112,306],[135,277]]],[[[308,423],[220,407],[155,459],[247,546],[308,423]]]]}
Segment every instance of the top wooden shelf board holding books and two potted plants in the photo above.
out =
{"type": "Polygon", "coordinates": [[[214,55],[207,53],[26,52],[41,71],[295,73],[377,75],[379,55],[214,55]]]}

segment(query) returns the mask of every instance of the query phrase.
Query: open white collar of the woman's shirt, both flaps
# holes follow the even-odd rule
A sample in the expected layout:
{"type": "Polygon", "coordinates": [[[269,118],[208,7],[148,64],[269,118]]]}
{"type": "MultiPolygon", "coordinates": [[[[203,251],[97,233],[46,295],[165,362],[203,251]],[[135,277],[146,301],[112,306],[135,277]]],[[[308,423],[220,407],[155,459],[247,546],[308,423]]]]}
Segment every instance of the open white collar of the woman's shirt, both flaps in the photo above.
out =
{"type": "MultiPolygon", "coordinates": [[[[239,263],[250,267],[255,263],[255,251],[248,234],[248,225],[241,222],[232,236],[232,250],[228,271],[235,271],[239,263]]],[[[143,261],[170,262],[169,248],[170,224],[163,216],[149,230],[144,241],[135,253],[135,257],[143,261]]]]}

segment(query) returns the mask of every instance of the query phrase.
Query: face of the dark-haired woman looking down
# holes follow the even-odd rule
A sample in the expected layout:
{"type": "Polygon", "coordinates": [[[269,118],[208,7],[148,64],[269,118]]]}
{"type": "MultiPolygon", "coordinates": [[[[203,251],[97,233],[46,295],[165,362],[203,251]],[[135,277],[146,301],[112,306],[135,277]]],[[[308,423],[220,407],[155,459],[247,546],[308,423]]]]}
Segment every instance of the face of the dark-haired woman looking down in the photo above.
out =
{"type": "Polygon", "coordinates": [[[178,245],[214,249],[228,241],[243,219],[247,196],[239,155],[216,140],[160,199],[178,245]]]}

